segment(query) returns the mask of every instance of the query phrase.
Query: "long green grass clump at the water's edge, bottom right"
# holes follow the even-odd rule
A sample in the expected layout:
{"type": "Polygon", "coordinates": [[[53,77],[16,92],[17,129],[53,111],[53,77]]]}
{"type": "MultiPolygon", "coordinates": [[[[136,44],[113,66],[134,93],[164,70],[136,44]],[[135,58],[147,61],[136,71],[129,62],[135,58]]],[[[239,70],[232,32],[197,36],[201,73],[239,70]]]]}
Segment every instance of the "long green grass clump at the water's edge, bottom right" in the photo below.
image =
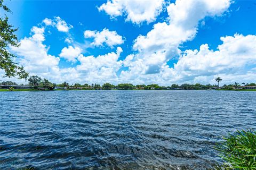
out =
{"type": "Polygon", "coordinates": [[[215,149],[225,163],[214,169],[256,169],[256,132],[253,129],[229,134],[215,149]]]}

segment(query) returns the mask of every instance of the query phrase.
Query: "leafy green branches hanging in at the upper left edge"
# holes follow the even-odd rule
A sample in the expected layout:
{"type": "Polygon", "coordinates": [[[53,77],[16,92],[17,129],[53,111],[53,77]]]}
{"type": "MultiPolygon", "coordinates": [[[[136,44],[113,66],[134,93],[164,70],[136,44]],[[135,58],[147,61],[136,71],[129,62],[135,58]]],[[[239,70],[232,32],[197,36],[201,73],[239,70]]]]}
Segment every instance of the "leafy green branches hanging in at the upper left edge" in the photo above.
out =
{"type": "MultiPolygon", "coordinates": [[[[4,11],[11,13],[11,10],[3,2],[3,0],[0,0],[0,9],[3,8],[4,11]]],[[[0,16],[0,69],[4,70],[4,77],[18,76],[19,79],[27,79],[28,73],[23,66],[13,62],[13,58],[16,56],[8,50],[10,46],[19,47],[20,45],[17,36],[14,34],[17,30],[9,24],[6,14],[0,16]]]]}

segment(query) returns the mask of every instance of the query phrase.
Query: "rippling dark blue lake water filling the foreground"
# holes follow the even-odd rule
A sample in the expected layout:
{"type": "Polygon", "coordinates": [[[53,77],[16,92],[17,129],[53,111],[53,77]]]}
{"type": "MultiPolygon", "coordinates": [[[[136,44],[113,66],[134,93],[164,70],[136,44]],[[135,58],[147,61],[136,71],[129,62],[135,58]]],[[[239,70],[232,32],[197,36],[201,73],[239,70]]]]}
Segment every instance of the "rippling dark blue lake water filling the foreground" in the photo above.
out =
{"type": "Polygon", "coordinates": [[[256,92],[0,92],[0,169],[206,169],[256,92]]]}

